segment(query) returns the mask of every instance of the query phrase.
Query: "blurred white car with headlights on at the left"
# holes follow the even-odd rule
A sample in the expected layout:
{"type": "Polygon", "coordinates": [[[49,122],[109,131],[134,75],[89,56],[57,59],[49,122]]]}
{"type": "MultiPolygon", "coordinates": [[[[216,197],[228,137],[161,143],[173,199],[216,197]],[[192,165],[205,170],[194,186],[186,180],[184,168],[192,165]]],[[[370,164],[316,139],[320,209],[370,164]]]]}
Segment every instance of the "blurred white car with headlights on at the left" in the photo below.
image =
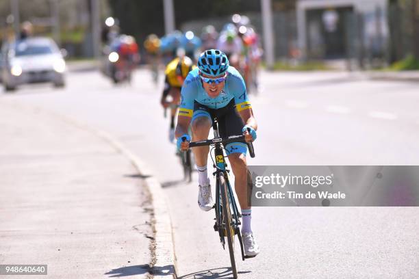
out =
{"type": "Polygon", "coordinates": [[[26,38],[3,48],[3,85],[6,91],[24,83],[52,82],[64,86],[66,62],[50,38],[26,38]]]}

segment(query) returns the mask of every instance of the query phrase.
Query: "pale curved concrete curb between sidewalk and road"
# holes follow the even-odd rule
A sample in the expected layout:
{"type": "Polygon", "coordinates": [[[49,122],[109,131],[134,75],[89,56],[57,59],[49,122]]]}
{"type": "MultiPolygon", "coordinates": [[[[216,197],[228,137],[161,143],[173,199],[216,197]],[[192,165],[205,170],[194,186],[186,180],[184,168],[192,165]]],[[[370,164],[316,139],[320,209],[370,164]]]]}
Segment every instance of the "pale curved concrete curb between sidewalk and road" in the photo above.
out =
{"type": "Polygon", "coordinates": [[[39,109],[42,111],[47,112],[47,114],[53,114],[58,118],[61,118],[65,122],[73,124],[75,127],[79,129],[89,131],[93,133],[97,137],[100,137],[105,142],[110,144],[113,148],[115,148],[120,154],[124,157],[127,157],[129,161],[131,161],[134,168],[138,171],[140,176],[144,178],[145,184],[147,189],[150,192],[151,196],[151,204],[153,205],[153,226],[155,230],[155,239],[154,239],[154,247],[151,250],[154,250],[154,254],[152,252],[151,256],[151,275],[153,278],[177,278],[176,275],[176,257],[175,257],[175,244],[173,241],[173,228],[172,228],[172,221],[170,220],[170,211],[168,210],[168,202],[166,194],[162,189],[162,185],[157,181],[157,179],[151,174],[151,171],[142,162],[133,152],[131,152],[128,148],[126,148],[121,142],[117,139],[112,137],[109,133],[105,131],[101,131],[99,129],[94,129],[89,127],[86,124],[75,120],[74,118],[70,118],[68,116],[64,116],[62,114],[58,114],[55,111],[51,111],[49,109],[45,109],[38,106],[31,106],[25,104],[19,104],[12,102],[13,105],[16,107],[23,107],[28,109],[39,109]]]}

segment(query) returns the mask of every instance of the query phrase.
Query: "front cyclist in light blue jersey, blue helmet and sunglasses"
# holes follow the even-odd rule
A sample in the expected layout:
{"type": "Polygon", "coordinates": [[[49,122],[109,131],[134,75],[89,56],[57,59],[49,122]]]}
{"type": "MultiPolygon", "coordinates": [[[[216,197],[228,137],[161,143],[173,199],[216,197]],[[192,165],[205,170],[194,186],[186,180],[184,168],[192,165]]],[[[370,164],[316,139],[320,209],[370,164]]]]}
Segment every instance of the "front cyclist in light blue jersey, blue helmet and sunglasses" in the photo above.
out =
{"type": "MultiPolygon", "coordinates": [[[[229,66],[225,53],[210,49],[201,53],[198,68],[189,73],[183,84],[176,127],[177,147],[188,150],[191,140],[188,127],[191,122],[193,140],[207,139],[214,117],[218,119],[220,137],[244,134],[246,142],[256,139],[257,123],[242,76],[229,66]],[[186,137],[184,142],[183,137],[186,137]]],[[[251,207],[247,203],[247,146],[244,142],[234,142],[225,148],[236,177],[234,185],[242,209],[244,252],[247,256],[255,256],[259,254],[259,247],[251,230],[251,207]]],[[[198,204],[203,211],[209,211],[213,206],[207,174],[209,146],[196,147],[192,151],[199,176],[198,204]]]]}

